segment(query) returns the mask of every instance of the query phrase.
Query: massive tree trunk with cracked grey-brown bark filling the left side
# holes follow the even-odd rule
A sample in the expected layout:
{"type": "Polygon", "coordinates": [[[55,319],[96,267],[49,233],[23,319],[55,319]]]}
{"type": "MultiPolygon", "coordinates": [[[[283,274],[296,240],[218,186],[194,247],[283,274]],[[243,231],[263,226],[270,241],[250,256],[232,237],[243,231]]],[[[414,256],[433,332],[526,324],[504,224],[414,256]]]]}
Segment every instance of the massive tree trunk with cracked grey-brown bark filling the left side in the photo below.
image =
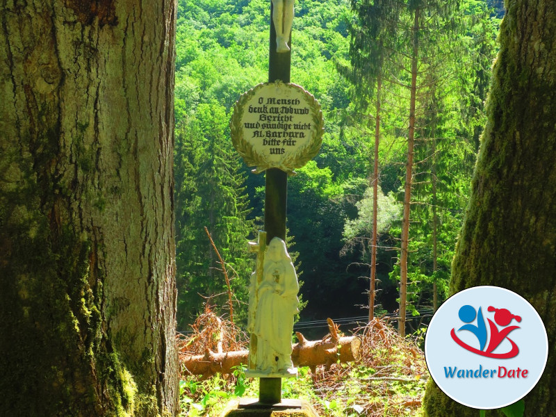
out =
{"type": "Polygon", "coordinates": [[[0,414],[174,415],[175,4],[0,24],[0,414]]]}

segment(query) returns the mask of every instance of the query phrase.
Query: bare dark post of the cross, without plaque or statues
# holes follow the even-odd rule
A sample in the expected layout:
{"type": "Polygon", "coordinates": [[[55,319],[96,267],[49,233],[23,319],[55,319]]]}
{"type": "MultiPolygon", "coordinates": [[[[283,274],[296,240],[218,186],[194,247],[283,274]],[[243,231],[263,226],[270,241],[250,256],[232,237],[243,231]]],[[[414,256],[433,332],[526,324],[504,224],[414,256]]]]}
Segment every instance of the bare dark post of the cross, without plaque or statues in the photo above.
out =
{"type": "MultiPolygon", "coordinates": [[[[291,50],[276,51],[276,28],[272,21],[274,6],[270,3],[270,44],[268,52],[268,82],[290,82],[291,50]]],[[[288,41],[291,48],[291,36],[288,41]]],[[[288,199],[288,174],[278,168],[265,172],[265,231],[266,243],[275,236],[286,240],[286,204],[288,199]]],[[[261,378],[259,402],[277,404],[281,402],[281,378],[261,378]]]]}

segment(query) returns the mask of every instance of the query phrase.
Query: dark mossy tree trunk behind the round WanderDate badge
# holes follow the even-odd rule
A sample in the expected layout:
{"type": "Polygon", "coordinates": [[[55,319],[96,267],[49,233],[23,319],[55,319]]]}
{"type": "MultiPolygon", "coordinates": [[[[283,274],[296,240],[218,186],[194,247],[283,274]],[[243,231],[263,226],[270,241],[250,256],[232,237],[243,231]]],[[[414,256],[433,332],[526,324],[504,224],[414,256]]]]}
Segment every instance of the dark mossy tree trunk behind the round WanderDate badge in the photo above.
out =
{"type": "MultiPolygon", "coordinates": [[[[525,416],[548,417],[556,414],[556,4],[518,0],[507,6],[450,293],[501,286],[537,309],[552,351],[525,397],[525,416]]],[[[432,379],[424,407],[427,416],[478,416],[432,379]]]]}

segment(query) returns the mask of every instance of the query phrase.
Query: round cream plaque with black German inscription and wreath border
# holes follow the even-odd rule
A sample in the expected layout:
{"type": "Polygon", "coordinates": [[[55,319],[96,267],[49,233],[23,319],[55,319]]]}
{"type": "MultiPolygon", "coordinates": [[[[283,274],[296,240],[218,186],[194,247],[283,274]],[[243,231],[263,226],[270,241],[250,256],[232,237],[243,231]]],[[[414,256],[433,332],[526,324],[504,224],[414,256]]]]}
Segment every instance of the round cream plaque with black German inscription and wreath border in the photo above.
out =
{"type": "Polygon", "coordinates": [[[292,83],[261,83],[240,96],[231,117],[231,140],[247,166],[259,173],[293,174],[318,154],[324,132],[320,104],[292,83]]]}

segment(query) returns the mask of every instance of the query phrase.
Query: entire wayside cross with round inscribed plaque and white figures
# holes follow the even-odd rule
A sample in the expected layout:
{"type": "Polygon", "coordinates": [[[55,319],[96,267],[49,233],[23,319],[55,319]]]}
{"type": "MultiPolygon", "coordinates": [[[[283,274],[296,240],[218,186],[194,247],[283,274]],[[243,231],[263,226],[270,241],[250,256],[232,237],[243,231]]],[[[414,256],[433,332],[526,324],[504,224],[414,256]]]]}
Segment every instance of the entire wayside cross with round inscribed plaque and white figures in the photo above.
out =
{"type": "Polygon", "coordinates": [[[279,268],[275,269],[276,275],[268,275],[270,281],[263,282],[259,265],[261,278],[254,284],[260,284],[262,288],[253,285],[250,296],[253,299],[250,300],[250,356],[254,354],[256,357],[250,359],[247,371],[254,377],[260,377],[259,402],[265,405],[279,404],[281,377],[297,374],[291,359],[288,359],[288,349],[284,347],[286,340],[291,343],[291,335],[286,335],[289,330],[284,327],[287,332],[280,334],[272,330],[277,316],[284,316],[288,327],[293,327],[293,314],[299,304],[297,276],[285,244],[288,174],[295,174],[296,168],[304,166],[318,154],[324,133],[318,101],[300,85],[290,83],[293,1],[271,0],[268,83],[260,83],[243,93],[234,105],[230,121],[231,140],[238,153],[247,166],[255,167],[252,172],[265,172],[266,236],[262,242],[263,237],[259,235],[259,242],[252,245],[252,250],[259,252],[258,259],[263,259],[264,247],[269,245],[269,250],[272,248],[269,267],[276,264],[272,268],[277,268],[280,264],[280,268],[284,268],[281,273],[279,268]],[[275,282],[272,282],[272,277],[275,277],[275,282]],[[279,304],[284,307],[274,310],[274,304],[267,302],[272,301],[272,297],[266,297],[269,289],[287,301],[286,304],[279,304]],[[259,291],[265,295],[261,305],[259,291]],[[257,316],[261,306],[261,311],[265,313],[257,316]],[[269,308],[272,310],[269,311],[269,308]],[[264,335],[254,332],[259,325],[264,335]]]}

